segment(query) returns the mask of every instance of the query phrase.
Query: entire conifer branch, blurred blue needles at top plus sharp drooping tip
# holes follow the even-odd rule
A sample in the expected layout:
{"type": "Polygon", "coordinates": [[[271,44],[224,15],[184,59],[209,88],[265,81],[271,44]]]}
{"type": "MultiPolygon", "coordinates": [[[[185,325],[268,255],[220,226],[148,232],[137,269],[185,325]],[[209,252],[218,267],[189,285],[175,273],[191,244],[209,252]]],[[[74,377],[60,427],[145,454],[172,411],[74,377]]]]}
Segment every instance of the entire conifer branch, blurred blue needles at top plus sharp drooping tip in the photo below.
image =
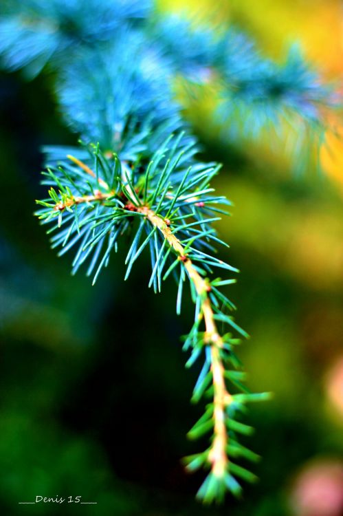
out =
{"type": "Polygon", "coordinates": [[[221,291],[234,279],[209,279],[217,269],[237,272],[215,256],[217,245],[227,244],[212,224],[230,202],[210,185],[219,165],[197,158],[197,139],[173,83],[179,74],[201,85],[217,81],[217,116],[230,122],[234,138],[270,122],[277,126],[289,114],[317,129],[335,97],[296,50],[278,66],[241,32],[194,30],[188,21],[161,19],[149,0],[89,0],[87,10],[80,0],[21,4],[6,4],[0,17],[0,58],[31,78],[45,65],[54,69],[63,116],[84,142],[46,150],[49,197],[37,201],[36,215],[52,224],[47,233],[59,255],[76,250],[72,273],[87,263],[93,283],[126,234],[131,244],[124,279],[148,250],[148,285],[157,292],[174,277],[177,314],[188,277],[195,321],[184,338],[186,367],[203,360],[192,401],[210,399],[188,436],[211,432],[211,439],[208,449],[185,462],[190,471],[210,469],[198,493],[204,502],[221,501],[226,491],[239,495],[236,477],[256,477],[233,460],[258,459],[239,442],[239,434],[252,431],[241,413],[247,402],[268,395],[250,393],[234,352],[240,342],[234,334],[247,337],[221,291]]]}

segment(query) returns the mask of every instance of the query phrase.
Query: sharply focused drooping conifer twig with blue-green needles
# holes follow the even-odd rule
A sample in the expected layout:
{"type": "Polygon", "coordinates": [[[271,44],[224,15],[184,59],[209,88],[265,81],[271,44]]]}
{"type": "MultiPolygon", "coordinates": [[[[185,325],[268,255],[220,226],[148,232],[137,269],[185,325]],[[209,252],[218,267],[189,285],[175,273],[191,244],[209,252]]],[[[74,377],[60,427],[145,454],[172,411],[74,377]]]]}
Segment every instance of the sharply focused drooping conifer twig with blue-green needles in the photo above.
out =
{"type": "MultiPolygon", "coordinates": [[[[242,411],[246,402],[263,400],[266,395],[250,394],[241,383],[245,374],[230,371],[232,365],[234,369],[241,369],[233,351],[239,341],[232,334],[221,334],[218,330],[218,323],[221,323],[247,336],[226,314],[226,310],[232,310],[234,306],[219,290],[234,280],[208,278],[212,268],[235,270],[212,255],[214,248],[210,244],[211,241],[223,242],[215,236],[211,227],[218,217],[209,215],[213,212],[225,213],[219,204],[228,204],[224,197],[213,193],[209,184],[219,167],[194,161],[185,170],[184,151],[177,153],[175,146],[180,144],[181,137],[182,133],[167,138],[170,149],[165,149],[163,155],[158,151],[145,172],[139,165],[129,166],[125,160],[119,160],[117,155],[101,153],[98,145],[91,146],[89,150],[95,159],[96,170],[99,169],[97,164],[101,163],[102,177],[93,171],[89,160],[73,158],[71,162],[74,165],[71,167],[67,162],[60,162],[58,167],[49,169],[47,173],[47,183],[53,182],[59,191],[56,193],[50,189],[52,202],[38,202],[43,209],[37,215],[46,223],[58,214],[58,226],[54,226],[54,230],[69,224],[69,227],[62,229],[60,236],[52,237],[53,245],[61,245],[63,249],[60,254],[63,254],[80,242],[73,262],[74,271],[93,252],[88,273],[98,263],[94,281],[102,267],[107,266],[110,252],[116,250],[120,235],[132,228],[135,218],[138,218],[139,226],[126,257],[125,279],[142,250],[149,248],[152,266],[149,286],[160,290],[162,279],[174,275],[178,285],[179,313],[183,283],[188,277],[195,303],[195,323],[184,343],[184,350],[190,350],[186,366],[190,367],[202,355],[205,356],[192,400],[197,402],[203,397],[212,399],[188,436],[198,438],[211,431],[212,437],[206,451],[185,458],[185,462],[190,471],[200,466],[210,469],[198,496],[205,502],[211,502],[223,499],[228,490],[236,495],[241,493],[241,486],[234,475],[254,480],[254,475],[234,464],[230,455],[254,460],[254,453],[237,442],[236,432],[250,433],[250,427],[237,421],[236,414],[242,411]],[[109,177],[111,181],[104,179],[109,177]],[[104,191],[96,190],[96,186],[104,191]],[[82,195],[74,195],[72,190],[76,189],[82,195]],[[144,232],[146,237],[142,241],[144,232]],[[101,259],[103,247],[105,252],[101,259]],[[230,394],[228,380],[241,394],[230,394]]],[[[70,160],[70,155],[68,158],[70,160]]]]}

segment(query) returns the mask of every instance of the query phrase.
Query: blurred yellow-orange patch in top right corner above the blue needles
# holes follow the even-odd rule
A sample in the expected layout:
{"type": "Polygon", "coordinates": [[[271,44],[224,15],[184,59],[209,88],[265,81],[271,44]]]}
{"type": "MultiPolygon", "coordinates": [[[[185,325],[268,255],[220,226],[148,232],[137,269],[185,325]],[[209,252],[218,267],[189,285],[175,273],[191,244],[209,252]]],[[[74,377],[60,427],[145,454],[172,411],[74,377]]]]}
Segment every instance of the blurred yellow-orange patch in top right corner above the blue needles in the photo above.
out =
{"type": "Polygon", "coordinates": [[[159,0],[166,12],[241,26],[266,54],[285,55],[287,44],[299,41],[306,56],[327,77],[343,72],[343,8],[340,0],[159,0]]]}

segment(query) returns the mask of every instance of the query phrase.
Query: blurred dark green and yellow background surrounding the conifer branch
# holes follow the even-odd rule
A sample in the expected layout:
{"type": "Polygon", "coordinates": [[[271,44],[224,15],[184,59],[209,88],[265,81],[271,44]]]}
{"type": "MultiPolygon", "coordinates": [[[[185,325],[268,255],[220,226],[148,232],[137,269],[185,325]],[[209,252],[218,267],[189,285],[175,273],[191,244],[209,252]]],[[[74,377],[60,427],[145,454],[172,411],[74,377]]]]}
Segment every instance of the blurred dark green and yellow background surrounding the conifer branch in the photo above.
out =
{"type": "MultiPolygon", "coordinates": [[[[277,61],[297,41],[325,80],[341,80],[339,0],[230,0],[215,9],[194,0],[184,15],[199,6],[277,61]]],[[[159,8],[185,6],[161,0],[159,8]]],[[[71,277],[70,256],[56,257],[32,216],[45,196],[41,146],[76,142],[52,80],[0,76],[3,514],[342,516],[342,142],[328,134],[295,174],[285,135],[296,142],[297,129],[232,143],[210,117],[210,93],[196,107],[184,100],[205,158],[224,164],[214,186],[235,205],[218,230],[231,246],[223,258],[241,270],[229,290],[252,335],[240,358],[251,389],[274,392],[249,416],[249,446],[263,456],[258,484],[245,486],[240,502],[203,507],[194,501],[203,473],[186,475],[180,464],[201,447],[186,440],[201,407],[190,406],[197,372],[184,369],[179,342],[191,305],[177,317],[173,284],[155,296],[139,268],[124,283],[124,245],[95,287],[82,273],[71,277]],[[318,159],[322,173],[312,166],[318,159]],[[98,505],[18,505],[36,495],[98,505]]]]}

